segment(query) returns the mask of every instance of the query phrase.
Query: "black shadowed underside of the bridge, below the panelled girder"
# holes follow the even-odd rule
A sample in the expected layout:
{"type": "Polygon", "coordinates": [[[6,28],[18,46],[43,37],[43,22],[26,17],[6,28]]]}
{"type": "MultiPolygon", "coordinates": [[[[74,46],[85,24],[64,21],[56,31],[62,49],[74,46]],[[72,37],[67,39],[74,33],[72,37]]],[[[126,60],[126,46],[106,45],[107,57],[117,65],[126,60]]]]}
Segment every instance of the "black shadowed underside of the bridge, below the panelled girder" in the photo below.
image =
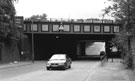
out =
{"type": "MultiPolygon", "coordinates": [[[[31,38],[31,34],[27,34],[31,38]]],[[[54,53],[66,53],[72,59],[86,56],[84,43],[109,42],[114,35],[34,34],[34,58],[46,60],[54,53]]],[[[31,39],[29,40],[31,41],[31,39]]]]}

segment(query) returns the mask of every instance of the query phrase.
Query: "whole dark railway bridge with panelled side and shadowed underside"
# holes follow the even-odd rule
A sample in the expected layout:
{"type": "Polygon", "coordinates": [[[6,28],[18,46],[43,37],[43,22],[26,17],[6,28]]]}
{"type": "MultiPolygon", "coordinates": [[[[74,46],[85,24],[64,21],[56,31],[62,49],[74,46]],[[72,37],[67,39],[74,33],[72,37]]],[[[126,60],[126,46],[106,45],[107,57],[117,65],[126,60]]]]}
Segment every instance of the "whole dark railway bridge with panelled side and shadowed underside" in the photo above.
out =
{"type": "Polygon", "coordinates": [[[29,46],[25,43],[24,50],[31,50],[36,60],[48,59],[53,53],[67,53],[73,59],[87,56],[86,46],[93,42],[104,42],[109,54],[109,41],[121,28],[121,24],[112,20],[94,19],[24,20],[23,24],[23,32],[30,42],[29,46]]]}

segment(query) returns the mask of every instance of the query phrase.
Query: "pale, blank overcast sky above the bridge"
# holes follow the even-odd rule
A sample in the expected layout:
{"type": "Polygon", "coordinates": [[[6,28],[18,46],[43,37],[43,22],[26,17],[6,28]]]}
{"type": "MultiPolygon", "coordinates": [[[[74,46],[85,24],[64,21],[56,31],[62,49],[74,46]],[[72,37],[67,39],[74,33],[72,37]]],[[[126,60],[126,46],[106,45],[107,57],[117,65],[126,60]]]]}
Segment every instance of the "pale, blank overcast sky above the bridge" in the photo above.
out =
{"type": "MultiPolygon", "coordinates": [[[[47,18],[87,19],[101,18],[107,0],[19,0],[16,15],[24,18],[47,14],[47,18]]],[[[107,17],[109,18],[109,17],[107,17]]]]}

